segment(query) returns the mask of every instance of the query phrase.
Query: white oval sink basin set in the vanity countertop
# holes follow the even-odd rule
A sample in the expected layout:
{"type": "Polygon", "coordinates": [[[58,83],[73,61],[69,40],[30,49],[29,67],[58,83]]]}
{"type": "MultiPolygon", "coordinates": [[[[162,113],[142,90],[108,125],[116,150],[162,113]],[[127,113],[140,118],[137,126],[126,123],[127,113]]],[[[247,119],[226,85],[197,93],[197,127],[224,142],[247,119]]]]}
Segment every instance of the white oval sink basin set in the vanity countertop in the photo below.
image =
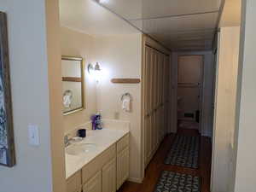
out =
{"type": "Polygon", "coordinates": [[[71,155],[79,155],[83,153],[90,153],[96,150],[96,144],[94,143],[80,143],[73,144],[66,148],[66,153],[71,155]]]}

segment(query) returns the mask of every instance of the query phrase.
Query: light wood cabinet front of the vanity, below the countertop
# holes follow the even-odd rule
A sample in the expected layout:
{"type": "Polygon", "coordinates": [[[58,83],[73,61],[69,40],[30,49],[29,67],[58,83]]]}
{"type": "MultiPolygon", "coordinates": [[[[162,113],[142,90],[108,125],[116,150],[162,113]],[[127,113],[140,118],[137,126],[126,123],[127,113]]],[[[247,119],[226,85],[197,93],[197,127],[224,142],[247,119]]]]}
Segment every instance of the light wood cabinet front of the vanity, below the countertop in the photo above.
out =
{"type": "Polygon", "coordinates": [[[129,134],[67,179],[67,192],[115,192],[129,177],[129,134]],[[82,186],[82,187],[81,187],[82,186]]]}

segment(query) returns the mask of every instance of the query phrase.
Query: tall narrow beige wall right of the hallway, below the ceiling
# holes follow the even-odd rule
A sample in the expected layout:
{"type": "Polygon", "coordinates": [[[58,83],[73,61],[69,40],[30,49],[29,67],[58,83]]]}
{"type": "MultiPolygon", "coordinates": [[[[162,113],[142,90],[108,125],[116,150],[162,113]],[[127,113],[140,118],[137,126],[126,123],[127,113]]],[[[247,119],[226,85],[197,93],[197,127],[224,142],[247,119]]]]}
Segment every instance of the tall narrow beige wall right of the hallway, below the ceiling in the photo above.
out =
{"type": "Polygon", "coordinates": [[[234,158],[240,27],[220,28],[212,148],[212,191],[229,191],[234,158]]]}

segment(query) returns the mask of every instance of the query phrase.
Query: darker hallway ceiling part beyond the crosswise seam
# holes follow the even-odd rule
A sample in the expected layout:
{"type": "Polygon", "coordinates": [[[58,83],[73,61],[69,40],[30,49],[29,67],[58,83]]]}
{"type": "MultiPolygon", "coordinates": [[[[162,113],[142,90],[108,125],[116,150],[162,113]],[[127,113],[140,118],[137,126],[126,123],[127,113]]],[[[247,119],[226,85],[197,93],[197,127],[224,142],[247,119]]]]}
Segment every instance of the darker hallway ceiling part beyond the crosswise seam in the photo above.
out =
{"type": "Polygon", "coordinates": [[[218,14],[213,13],[132,20],[131,23],[170,49],[211,49],[217,19],[218,14]]]}

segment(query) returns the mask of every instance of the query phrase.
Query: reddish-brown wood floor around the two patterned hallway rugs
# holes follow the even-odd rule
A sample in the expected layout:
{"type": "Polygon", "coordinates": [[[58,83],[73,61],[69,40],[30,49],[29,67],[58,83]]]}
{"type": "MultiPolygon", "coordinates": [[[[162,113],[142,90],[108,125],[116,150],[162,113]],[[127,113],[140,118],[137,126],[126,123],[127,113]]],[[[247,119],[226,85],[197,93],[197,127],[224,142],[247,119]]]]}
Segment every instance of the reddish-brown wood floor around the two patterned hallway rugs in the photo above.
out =
{"type": "MultiPolygon", "coordinates": [[[[179,130],[179,134],[197,135],[193,130],[179,130]]],[[[145,172],[143,183],[125,182],[118,192],[153,192],[155,184],[160,177],[160,173],[164,170],[172,172],[187,173],[190,175],[201,177],[201,192],[210,192],[210,178],[211,178],[211,157],[212,157],[212,143],[210,138],[201,137],[201,151],[200,151],[200,167],[199,169],[190,169],[181,166],[167,166],[164,164],[166,154],[173,142],[175,135],[168,135],[165,137],[160,145],[160,148],[154,155],[153,160],[148,165],[145,172]]]]}

